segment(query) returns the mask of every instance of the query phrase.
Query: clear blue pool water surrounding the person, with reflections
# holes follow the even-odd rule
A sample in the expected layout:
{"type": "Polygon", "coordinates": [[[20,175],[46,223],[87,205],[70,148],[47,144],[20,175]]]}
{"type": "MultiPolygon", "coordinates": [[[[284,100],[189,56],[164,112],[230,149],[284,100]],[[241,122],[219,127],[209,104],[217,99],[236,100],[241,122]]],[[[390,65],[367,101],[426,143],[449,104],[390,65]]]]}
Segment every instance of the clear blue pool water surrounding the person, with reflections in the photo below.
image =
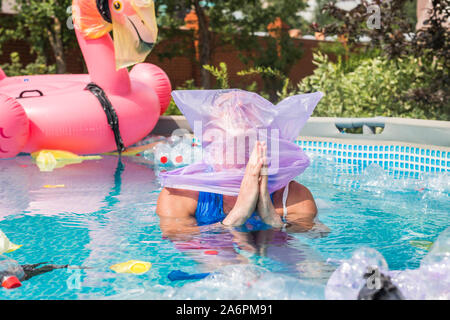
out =
{"type": "Polygon", "coordinates": [[[40,172],[28,156],[2,160],[0,229],[23,245],[7,255],[21,264],[91,269],[36,276],[21,288],[0,289],[0,299],[322,299],[335,261],[357,248],[378,250],[391,270],[415,269],[427,251],[411,241],[434,241],[450,225],[448,173],[393,176],[377,165],[311,158],[298,181],[331,229],[325,237],[207,228],[170,239],[155,213],[156,172],[142,157],[119,164],[107,156],[52,172],[40,172]],[[206,255],[208,248],[219,254],[206,255]],[[131,259],[153,266],[143,275],[109,269],[131,259]],[[215,274],[171,282],[175,269],[215,274]]]}

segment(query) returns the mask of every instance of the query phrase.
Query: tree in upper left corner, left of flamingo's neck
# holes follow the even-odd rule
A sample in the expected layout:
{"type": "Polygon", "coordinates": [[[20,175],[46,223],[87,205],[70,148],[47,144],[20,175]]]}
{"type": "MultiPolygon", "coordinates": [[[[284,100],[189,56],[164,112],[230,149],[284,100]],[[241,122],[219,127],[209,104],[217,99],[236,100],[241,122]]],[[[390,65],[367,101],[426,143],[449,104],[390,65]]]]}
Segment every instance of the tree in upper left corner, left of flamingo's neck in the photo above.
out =
{"type": "MultiPolygon", "coordinates": [[[[31,52],[49,63],[52,52],[56,72],[65,73],[67,49],[76,45],[75,33],[67,25],[71,0],[15,0],[17,14],[4,18],[0,44],[7,40],[26,40],[31,52]]],[[[3,20],[3,18],[2,18],[3,20]]]]}

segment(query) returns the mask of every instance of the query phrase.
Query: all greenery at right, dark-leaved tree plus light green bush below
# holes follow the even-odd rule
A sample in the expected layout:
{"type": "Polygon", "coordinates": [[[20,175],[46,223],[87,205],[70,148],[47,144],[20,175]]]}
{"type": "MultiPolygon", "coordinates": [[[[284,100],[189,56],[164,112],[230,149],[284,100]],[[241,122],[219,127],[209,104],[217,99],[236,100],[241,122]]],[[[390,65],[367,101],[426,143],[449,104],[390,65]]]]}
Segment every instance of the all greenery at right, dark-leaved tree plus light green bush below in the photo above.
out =
{"type": "Polygon", "coordinates": [[[322,12],[333,17],[334,22],[313,27],[329,35],[345,35],[346,50],[337,48],[333,52],[337,63],[316,56],[319,68],[302,82],[300,89],[323,88],[328,97],[321,105],[330,103],[328,112],[332,115],[449,119],[448,1],[431,0],[427,27],[421,30],[415,30],[414,2],[371,1],[380,8],[378,28],[366,24],[369,1],[362,0],[350,11],[333,3],[325,4],[322,12]],[[370,39],[368,46],[362,47],[368,48],[351,52],[349,46],[354,48],[361,36],[370,39]]]}

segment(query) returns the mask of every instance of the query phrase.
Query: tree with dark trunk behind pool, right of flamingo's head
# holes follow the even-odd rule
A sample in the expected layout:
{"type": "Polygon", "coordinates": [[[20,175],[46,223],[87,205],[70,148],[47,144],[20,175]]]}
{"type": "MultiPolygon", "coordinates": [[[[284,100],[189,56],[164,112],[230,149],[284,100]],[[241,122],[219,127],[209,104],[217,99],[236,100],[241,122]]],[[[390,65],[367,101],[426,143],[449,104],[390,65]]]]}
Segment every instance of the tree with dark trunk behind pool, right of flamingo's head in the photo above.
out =
{"type": "MultiPolygon", "coordinates": [[[[253,66],[271,66],[282,72],[288,71],[301,51],[286,30],[279,37],[267,37],[261,42],[261,32],[277,18],[283,22],[299,22],[297,15],[305,7],[298,0],[156,0],[161,22],[161,35],[170,36],[173,28],[185,25],[188,12],[195,12],[198,29],[192,28],[198,41],[200,66],[210,65],[214,50],[224,44],[233,44],[241,50],[242,60],[253,66]],[[219,34],[220,37],[214,35],[219,34]],[[281,54],[279,54],[281,53],[281,54]]],[[[202,69],[202,87],[210,88],[210,74],[202,69]]]]}

